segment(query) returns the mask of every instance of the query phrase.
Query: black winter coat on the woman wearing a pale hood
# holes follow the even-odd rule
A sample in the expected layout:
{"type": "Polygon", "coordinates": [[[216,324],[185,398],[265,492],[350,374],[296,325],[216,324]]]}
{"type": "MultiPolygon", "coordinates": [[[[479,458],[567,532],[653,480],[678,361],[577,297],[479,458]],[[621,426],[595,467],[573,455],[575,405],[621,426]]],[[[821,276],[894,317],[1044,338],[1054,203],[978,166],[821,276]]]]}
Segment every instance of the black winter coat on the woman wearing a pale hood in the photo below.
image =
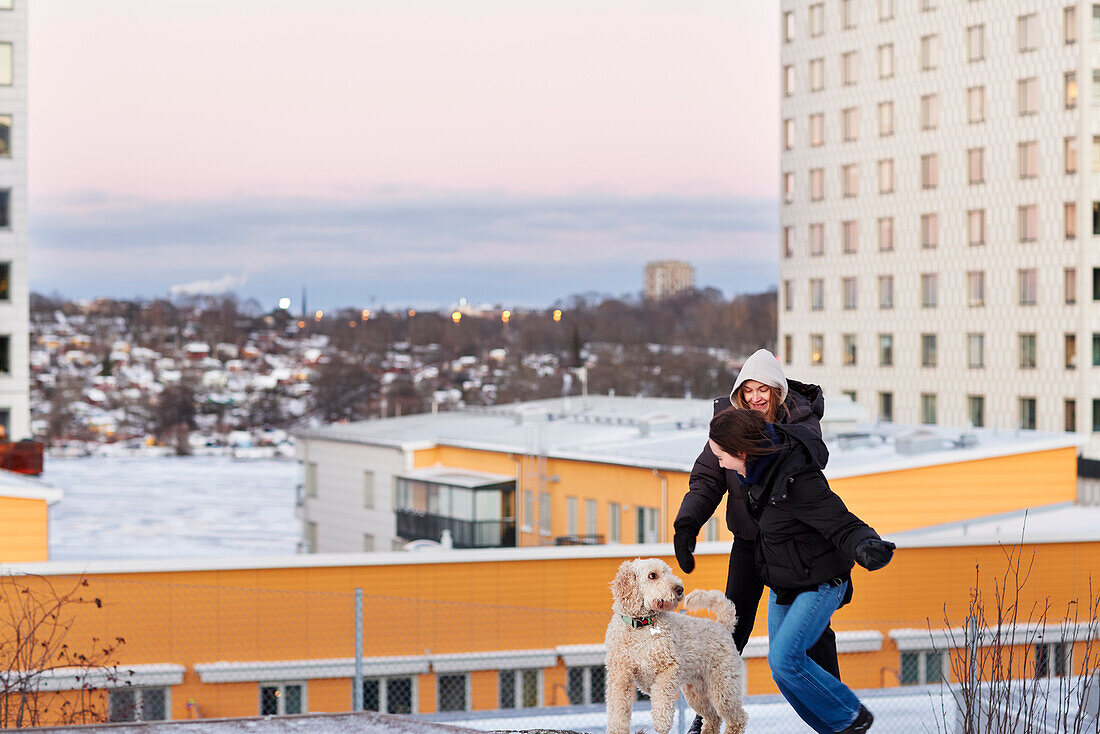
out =
{"type": "MultiPolygon", "coordinates": [[[[805,431],[807,440],[813,437],[821,439],[821,419],[825,414],[822,388],[795,380],[788,380],[787,386],[787,399],[779,409],[777,421],[792,428],[798,426],[799,430],[805,431]]],[[[715,398],[714,415],[718,415],[729,406],[729,397],[715,398]]],[[[824,449],[824,443],[822,448],[824,449]]],[[[825,461],[827,460],[826,451],[825,461]]],[[[745,510],[737,472],[723,469],[707,442],[703,446],[703,452],[695,459],[695,465],[692,467],[691,478],[688,480],[688,494],[680,503],[680,512],[676,513],[673,526],[689,533],[698,533],[722,503],[722,495],[727,493],[726,527],[738,538],[752,540],[757,537],[757,527],[745,510]]]]}

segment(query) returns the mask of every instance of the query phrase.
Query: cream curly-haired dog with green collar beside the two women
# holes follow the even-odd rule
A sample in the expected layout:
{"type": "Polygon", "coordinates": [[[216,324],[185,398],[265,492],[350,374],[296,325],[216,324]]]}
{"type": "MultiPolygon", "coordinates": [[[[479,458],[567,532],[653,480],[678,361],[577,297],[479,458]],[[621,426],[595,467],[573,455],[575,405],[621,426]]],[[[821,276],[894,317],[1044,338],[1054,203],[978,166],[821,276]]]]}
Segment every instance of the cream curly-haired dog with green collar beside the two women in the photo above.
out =
{"type": "Polygon", "coordinates": [[[676,693],[703,717],[703,734],[740,734],[749,715],[745,662],[734,647],[737,612],[721,591],[696,590],[684,598],[683,582],[669,565],[637,558],[619,566],[612,581],[614,614],[607,625],[607,734],[629,734],[634,689],[649,693],[653,726],[672,728],[676,693]],[[711,610],[718,621],[676,614],[711,610]]]}

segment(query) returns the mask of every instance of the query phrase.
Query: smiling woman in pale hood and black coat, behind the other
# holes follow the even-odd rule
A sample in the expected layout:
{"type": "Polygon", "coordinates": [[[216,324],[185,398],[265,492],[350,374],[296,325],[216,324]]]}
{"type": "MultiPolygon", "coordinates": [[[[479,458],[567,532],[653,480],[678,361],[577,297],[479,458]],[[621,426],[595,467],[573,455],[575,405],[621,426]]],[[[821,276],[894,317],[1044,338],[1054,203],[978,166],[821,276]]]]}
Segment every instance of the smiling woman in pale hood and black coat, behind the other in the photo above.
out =
{"type": "MultiPolygon", "coordinates": [[[[817,385],[788,380],[776,355],[767,349],[759,349],[745,361],[729,397],[714,401],[714,415],[734,406],[761,413],[768,423],[783,424],[795,431],[809,431],[821,438],[821,418],[825,413],[825,398],[817,385]]],[[[741,653],[756,624],[757,609],[763,595],[763,581],[756,565],[757,527],[749,516],[741,497],[740,482],[734,471],[723,469],[710,445],[703,447],[695,460],[688,494],[676,514],[673,545],[676,562],[684,573],[695,568],[692,552],[700,528],[711,518],[726,500],[726,525],[734,533],[734,545],[729,551],[729,573],[726,580],[726,596],[737,607],[737,626],[734,628],[734,644],[741,653]]],[[[826,671],[840,678],[836,659],[836,635],[831,626],[807,650],[809,656],[826,671]]],[[[698,734],[703,720],[695,717],[689,734],[698,734]]]]}

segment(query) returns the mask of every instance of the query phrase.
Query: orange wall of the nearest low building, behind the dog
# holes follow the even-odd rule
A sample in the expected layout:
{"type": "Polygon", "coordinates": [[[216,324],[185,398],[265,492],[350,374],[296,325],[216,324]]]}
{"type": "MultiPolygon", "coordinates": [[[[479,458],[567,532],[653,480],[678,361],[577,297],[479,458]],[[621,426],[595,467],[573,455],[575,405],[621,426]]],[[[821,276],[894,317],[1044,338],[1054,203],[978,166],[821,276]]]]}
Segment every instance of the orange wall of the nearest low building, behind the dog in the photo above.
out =
{"type": "MultiPolygon", "coordinates": [[[[666,547],[667,548],[667,547],[666,547]]],[[[1089,573],[1100,568],[1100,543],[1025,546],[1033,572],[1020,609],[1049,600],[1048,622],[1060,622],[1072,599],[1089,598],[1089,573]]],[[[598,644],[610,616],[608,582],[624,558],[560,558],[394,566],[241,569],[190,572],[99,574],[86,592],[102,607],[81,607],[70,643],[91,636],[125,638],[124,666],[170,662],[187,669],[173,688],[174,719],[187,716],[194,699],[204,717],[257,713],[258,681],[202,684],[197,662],[348,658],[353,656],[353,590],[364,590],[367,657],[437,653],[492,653],[598,644]]],[[[666,557],[670,563],[671,557],[666,557]]],[[[978,587],[992,598],[1003,582],[1000,547],[902,548],[876,573],[854,572],[855,599],[833,620],[838,632],[878,629],[887,635],[876,653],[842,655],[845,680],[854,688],[897,684],[899,653],[889,639],[895,628],[960,626],[967,614],[975,569],[978,587]],[[946,621],[945,621],[946,610],[946,621]]],[[[724,555],[701,555],[689,589],[725,583],[724,555]]],[[[72,577],[52,577],[58,587],[72,577]]],[[[34,578],[30,583],[38,583],[34,578]]],[[[991,604],[987,601],[987,607],[991,604]]],[[[1041,604],[1042,607],[1042,604],[1041,604]]],[[[6,613],[0,611],[0,614],[6,613]]],[[[766,634],[761,613],[757,634],[766,634]]],[[[750,658],[749,692],[776,692],[767,662],[750,658]]],[[[380,675],[367,670],[369,677],[380,675]]],[[[564,669],[544,670],[544,700],[561,695],[564,669]]],[[[471,677],[477,708],[495,708],[493,671],[471,677]]],[[[350,679],[312,680],[310,711],[348,711],[350,679]]],[[[563,700],[563,699],[562,699],[563,700]]],[[[421,712],[436,709],[431,673],[419,676],[421,712]]]]}

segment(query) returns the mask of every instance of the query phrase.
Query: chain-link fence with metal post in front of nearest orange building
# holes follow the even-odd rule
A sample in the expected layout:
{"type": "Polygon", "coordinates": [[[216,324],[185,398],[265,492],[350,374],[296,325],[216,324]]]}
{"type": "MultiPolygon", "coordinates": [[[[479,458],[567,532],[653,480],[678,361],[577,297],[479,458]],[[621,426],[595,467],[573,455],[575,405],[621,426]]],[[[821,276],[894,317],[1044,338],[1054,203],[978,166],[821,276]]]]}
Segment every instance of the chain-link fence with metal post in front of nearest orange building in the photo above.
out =
{"type": "MultiPolygon", "coordinates": [[[[285,569],[279,580],[307,585],[307,576],[285,569]]],[[[370,589],[187,583],[186,577],[0,577],[0,724],[361,709],[484,731],[606,731],[606,611],[459,603],[370,589]]],[[[446,566],[437,581],[462,583],[448,577],[446,566]]],[[[968,697],[970,710],[976,701],[978,708],[987,699],[1007,706],[1013,697],[1030,695],[1048,701],[1052,712],[1076,705],[1094,716],[1094,678],[1081,676],[1097,669],[1094,616],[1074,625],[1015,625],[1018,636],[998,655],[1018,659],[996,665],[1008,666],[1018,689],[1020,680],[1045,682],[986,693],[958,681],[971,672],[976,680],[990,677],[970,668],[979,647],[991,648],[988,631],[843,613],[838,621],[842,675],[875,713],[876,731],[964,731],[959,711],[967,710],[968,697]],[[953,682],[941,684],[944,679],[953,682]]],[[[749,731],[811,731],[777,693],[766,638],[754,637],[745,658],[749,731]]],[[[632,731],[647,730],[650,703],[636,698],[632,731]]],[[[681,698],[672,731],[685,731],[692,717],[681,698]]]]}

